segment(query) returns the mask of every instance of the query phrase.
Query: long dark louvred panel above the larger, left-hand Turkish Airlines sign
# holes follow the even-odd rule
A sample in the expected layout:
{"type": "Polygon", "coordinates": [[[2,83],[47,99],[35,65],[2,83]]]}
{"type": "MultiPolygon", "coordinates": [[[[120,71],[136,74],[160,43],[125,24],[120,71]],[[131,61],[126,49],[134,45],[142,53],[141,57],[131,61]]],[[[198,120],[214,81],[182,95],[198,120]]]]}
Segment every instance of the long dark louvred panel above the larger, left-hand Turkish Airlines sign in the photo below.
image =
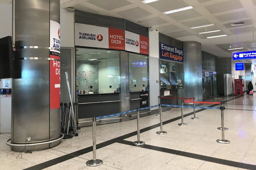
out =
{"type": "Polygon", "coordinates": [[[124,30],[124,19],[75,10],[75,22],[124,30]]]}

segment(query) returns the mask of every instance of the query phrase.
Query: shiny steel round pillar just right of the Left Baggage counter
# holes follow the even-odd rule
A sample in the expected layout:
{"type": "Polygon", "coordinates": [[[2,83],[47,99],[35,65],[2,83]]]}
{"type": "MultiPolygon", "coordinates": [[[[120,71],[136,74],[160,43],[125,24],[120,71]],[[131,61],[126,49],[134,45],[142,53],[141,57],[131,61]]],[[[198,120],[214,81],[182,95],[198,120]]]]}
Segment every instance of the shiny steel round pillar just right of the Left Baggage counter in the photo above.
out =
{"type": "Polygon", "coordinates": [[[202,51],[201,43],[184,41],[184,79],[186,96],[195,97],[195,101],[203,100],[202,90],[202,51]]]}

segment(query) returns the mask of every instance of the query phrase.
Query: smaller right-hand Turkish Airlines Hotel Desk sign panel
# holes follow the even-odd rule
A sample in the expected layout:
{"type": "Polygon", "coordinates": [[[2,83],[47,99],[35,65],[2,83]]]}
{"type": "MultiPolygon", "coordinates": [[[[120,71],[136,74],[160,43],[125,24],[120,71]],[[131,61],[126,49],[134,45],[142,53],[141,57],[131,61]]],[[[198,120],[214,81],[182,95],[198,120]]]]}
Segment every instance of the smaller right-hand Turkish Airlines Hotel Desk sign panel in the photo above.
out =
{"type": "Polygon", "coordinates": [[[125,31],[125,50],[148,55],[148,37],[125,31]]]}

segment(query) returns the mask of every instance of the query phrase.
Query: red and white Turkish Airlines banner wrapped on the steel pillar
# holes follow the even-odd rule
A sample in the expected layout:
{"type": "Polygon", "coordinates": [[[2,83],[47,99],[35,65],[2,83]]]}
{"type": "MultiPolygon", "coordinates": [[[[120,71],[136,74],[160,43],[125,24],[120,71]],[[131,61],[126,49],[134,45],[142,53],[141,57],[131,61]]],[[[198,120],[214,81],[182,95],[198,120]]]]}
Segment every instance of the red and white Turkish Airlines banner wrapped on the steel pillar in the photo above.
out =
{"type": "MultiPolygon", "coordinates": [[[[60,24],[50,20],[50,58],[60,60],[60,24]]],[[[50,60],[50,108],[60,108],[60,61],[50,60]]]]}

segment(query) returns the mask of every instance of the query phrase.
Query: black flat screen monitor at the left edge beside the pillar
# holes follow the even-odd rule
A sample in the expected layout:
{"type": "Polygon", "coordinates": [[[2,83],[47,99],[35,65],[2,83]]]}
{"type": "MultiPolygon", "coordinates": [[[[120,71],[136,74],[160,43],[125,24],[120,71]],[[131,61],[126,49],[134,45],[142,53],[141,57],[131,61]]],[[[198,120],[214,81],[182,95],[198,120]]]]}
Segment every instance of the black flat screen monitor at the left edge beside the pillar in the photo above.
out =
{"type": "Polygon", "coordinates": [[[13,77],[12,37],[0,38],[0,79],[13,77]]]}

